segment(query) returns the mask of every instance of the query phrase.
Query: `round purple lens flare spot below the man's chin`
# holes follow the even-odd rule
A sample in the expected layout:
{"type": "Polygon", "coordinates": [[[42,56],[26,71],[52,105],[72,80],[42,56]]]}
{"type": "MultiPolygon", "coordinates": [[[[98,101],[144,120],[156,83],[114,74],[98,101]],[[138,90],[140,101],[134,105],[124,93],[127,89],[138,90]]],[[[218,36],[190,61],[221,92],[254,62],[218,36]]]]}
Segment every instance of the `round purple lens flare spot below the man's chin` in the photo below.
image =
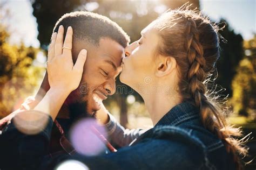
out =
{"type": "Polygon", "coordinates": [[[71,143],[78,153],[90,156],[103,152],[105,141],[101,140],[99,135],[106,137],[107,132],[96,119],[82,119],[72,127],[70,132],[71,143]]]}

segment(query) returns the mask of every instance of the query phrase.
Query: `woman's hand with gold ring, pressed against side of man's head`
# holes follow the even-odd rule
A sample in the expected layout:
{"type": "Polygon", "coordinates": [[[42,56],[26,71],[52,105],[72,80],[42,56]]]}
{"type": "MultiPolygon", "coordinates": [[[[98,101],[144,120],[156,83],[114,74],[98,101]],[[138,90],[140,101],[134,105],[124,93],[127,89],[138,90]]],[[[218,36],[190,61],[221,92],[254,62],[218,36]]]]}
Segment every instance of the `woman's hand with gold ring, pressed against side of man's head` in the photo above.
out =
{"type": "Polygon", "coordinates": [[[50,88],[66,90],[67,93],[75,90],[81,81],[83,66],[87,51],[80,51],[75,65],[72,60],[72,27],[69,26],[63,44],[64,28],[59,26],[58,34],[53,33],[48,52],[48,79],[50,88]]]}

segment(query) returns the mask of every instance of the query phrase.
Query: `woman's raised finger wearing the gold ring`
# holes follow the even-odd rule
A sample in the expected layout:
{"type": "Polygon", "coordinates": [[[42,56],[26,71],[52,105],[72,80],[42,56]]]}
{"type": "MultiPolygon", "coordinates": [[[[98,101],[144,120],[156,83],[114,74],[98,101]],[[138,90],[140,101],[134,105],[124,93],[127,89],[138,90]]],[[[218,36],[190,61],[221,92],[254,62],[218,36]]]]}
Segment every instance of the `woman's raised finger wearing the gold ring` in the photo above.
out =
{"type": "Polygon", "coordinates": [[[71,26],[68,27],[68,30],[66,31],[66,37],[63,44],[63,55],[64,56],[70,56],[70,59],[72,59],[72,36],[73,36],[73,29],[71,26]]]}

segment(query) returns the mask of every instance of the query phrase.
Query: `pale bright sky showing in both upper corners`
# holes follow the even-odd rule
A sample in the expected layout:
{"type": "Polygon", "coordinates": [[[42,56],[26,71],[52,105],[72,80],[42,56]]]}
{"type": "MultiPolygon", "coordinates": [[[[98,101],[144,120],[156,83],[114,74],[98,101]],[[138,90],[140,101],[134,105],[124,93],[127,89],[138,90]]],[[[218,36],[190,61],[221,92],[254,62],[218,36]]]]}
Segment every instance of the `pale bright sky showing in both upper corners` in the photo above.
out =
{"type": "MultiPolygon", "coordinates": [[[[5,8],[9,9],[11,16],[6,21],[10,25],[10,42],[18,44],[23,41],[26,46],[39,47],[36,18],[32,15],[29,0],[6,2],[5,8]]],[[[200,8],[214,21],[225,18],[246,40],[253,38],[253,32],[256,32],[256,0],[201,0],[200,8]]]]}

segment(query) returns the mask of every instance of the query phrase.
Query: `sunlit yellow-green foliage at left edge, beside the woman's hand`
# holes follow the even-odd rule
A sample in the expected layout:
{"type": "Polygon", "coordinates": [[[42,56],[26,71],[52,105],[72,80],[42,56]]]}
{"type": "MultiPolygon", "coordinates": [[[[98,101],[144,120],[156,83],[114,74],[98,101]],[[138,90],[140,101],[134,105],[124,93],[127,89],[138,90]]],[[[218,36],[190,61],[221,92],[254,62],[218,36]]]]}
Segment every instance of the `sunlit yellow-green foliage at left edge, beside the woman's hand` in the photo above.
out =
{"type": "Polygon", "coordinates": [[[8,43],[9,33],[0,24],[0,118],[10,114],[38,84],[42,68],[32,66],[38,49],[8,43]]]}

